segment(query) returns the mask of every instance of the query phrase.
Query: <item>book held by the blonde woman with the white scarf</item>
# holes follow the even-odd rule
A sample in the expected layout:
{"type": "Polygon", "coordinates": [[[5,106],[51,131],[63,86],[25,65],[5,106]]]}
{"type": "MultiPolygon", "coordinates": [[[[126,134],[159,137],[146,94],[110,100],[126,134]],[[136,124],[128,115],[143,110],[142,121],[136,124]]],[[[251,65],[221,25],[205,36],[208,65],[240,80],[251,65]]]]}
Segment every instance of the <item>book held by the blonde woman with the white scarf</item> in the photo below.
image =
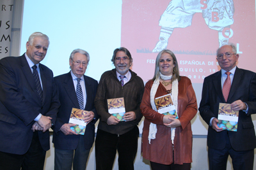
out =
{"type": "Polygon", "coordinates": [[[156,109],[158,113],[164,115],[175,115],[178,118],[175,105],[173,104],[172,95],[166,94],[155,99],[156,109]]]}

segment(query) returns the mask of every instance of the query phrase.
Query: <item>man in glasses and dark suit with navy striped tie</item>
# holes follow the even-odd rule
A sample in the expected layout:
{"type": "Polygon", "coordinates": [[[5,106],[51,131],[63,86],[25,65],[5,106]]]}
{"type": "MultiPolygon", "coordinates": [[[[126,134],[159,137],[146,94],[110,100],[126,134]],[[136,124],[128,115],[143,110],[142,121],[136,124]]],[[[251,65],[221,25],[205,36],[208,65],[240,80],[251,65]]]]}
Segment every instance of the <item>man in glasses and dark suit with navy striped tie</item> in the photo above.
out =
{"type": "Polygon", "coordinates": [[[94,142],[95,122],[98,118],[93,104],[98,82],[84,76],[89,60],[90,56],[86,51],[73,50],[69,58],[71,71],[54,78],[58,85],[61,103],[53,134],[55,170],[71,170],[72,162],[74,170],[86,168],[88,155],[94,142]],[[77,97],[79,96],[77,91],[80,88],[77,85],[81,85],[83,91],[81,100],[77,97]],[[70,129],[76,125],[68,124],[72,108],[89,111],[84,119],[84,122],[87,122],[84,135],[78,135],[70,129]]]}

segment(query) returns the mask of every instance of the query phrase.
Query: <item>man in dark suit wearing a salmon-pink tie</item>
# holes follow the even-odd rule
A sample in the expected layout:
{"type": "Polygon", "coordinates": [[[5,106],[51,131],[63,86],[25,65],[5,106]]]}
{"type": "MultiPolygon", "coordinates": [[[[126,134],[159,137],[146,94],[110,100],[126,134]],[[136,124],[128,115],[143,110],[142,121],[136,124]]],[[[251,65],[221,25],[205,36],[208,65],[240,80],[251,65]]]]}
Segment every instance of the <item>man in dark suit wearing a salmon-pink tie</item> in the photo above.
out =
{"type": "Polygon", "coordinates": [[[239,69],[238,57],[236,46],[221,46],[217,51],[221,70],[204,80],[199,111],[209,124],[209,169],[226,169],[228,155],[235,170],[253,169],[256,139],[251,114],[256,113],[256,74],[239,69]],[[232,110],[239,111],[237,132],[218,127],[220,103],[231,104],[232,110]]]}

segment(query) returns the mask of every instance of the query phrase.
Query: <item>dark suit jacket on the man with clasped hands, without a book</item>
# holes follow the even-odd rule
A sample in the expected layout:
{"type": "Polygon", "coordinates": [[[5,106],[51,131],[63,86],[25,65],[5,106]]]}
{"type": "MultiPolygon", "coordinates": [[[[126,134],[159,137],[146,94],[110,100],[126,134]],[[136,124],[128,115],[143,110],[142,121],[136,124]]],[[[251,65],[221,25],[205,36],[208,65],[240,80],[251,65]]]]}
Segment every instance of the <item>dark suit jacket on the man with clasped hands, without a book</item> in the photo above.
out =
{"type": "MultiPolygon", "coordinates": [[[[60,102],[51,69],[39,64],[43,104],[25,55],[0,60],[0,151],[24,154],[31,144],[34,119],[39,113],[55,122],[60,102]]],[[[44,150],[49,150],[49,131],[38,131],[44,150]]]]}

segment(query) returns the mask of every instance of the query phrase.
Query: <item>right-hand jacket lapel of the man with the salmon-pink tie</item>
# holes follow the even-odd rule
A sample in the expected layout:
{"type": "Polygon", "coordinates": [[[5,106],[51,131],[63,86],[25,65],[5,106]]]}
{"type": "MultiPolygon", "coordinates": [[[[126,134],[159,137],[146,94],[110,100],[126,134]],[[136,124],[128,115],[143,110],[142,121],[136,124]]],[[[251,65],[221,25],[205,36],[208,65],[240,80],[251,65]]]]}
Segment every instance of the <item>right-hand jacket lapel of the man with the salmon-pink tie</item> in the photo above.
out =
{"type": "Polygon", "coordinates": [[[243,78],[243,71],[237,67],[234,74],[233,81],[232,81],[232,85],[230,87],[227,101],[229,101],[232,98],[232,96],[234,96],[236,90],[238,89],[241,83],[242,78],[243,78]]]}

